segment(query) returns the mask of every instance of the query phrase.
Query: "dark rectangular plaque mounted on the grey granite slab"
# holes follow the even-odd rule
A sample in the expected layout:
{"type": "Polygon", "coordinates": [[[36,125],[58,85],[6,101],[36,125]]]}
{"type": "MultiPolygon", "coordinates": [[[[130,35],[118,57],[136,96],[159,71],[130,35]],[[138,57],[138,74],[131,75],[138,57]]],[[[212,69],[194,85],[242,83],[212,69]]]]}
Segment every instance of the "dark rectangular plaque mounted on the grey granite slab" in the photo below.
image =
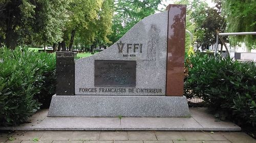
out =
{"type": "Polygon", "coordinates": [[[94,61],[94,86],[135,87],[136,61],[94,61]]]}

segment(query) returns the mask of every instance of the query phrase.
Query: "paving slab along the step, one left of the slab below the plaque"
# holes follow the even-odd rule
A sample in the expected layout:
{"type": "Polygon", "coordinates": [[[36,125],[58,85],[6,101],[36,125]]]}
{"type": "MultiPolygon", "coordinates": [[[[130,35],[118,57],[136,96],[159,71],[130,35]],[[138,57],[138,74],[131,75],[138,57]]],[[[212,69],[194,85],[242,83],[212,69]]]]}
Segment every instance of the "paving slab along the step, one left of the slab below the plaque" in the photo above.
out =
{"type": "Polygon", "coordinates": [[[70,140],[98,140],[100,131],[73,131],[70,140]]]}

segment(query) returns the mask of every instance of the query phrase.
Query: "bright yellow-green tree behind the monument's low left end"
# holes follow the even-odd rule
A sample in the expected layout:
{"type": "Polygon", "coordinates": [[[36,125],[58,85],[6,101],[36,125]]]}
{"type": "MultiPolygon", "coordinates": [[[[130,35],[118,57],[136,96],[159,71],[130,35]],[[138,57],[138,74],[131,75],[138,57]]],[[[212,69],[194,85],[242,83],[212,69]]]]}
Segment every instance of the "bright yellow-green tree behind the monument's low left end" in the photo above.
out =
{"type": "MultiPolygon", "coordinates": [[[[72,49],[75,34],[79,33],[80,37],[90,39],[90,41],[95,39],[95,35],[97,30],[96,22],[98,20],[98,12],[101,9],[102,0],[100,1],[80,1],[80,0],[72,0],[69,4],[69,22],[66,24],[66,32],[64,32],[65,36],[68,37],[67,34],[70,34],[69,38],[69,50],[72,49]]],[[[68,39],[62,41],[65,42],[68,39]]],[[[62,47],[63,48],[63,47],[62,47]]],[[[66,48],[66,47],[65,47],[66,48]]]]}

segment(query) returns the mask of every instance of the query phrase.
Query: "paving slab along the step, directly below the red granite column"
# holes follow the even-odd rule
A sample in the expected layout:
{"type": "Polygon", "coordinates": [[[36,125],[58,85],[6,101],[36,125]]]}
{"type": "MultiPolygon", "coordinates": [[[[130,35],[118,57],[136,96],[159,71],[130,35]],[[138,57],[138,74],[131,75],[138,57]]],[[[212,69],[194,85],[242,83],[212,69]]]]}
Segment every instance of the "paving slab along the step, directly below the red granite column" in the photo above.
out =
{"type": "Polygon", "coordinates": [[[185,140],[180,131],[156,131],[157,140],[185,140]]]}

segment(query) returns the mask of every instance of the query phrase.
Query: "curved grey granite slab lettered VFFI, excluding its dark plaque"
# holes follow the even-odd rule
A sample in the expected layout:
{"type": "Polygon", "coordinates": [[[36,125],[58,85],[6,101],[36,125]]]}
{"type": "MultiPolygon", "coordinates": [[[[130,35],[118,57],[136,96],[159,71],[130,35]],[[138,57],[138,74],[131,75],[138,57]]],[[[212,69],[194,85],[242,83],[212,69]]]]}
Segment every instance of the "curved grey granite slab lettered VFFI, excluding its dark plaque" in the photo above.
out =
{"type": "Polygon", "coordinates": [[[75,62],[75,95],[165,95],[167,19],[167,11],[148,16],[132,27],[111,47],[77,60],[75,62]],[[125,43],[122,52],[119,52],[120,42],[125,43]],[[132,44],[129,53],[127,53],[127,44],[132,44]],[[135,52],[134,44],[137,44],[135,52]],[[141,51],[140,44],[142,44],[141,51]],[[124,54],[135,56],[123,56],[124,54]],[[136,86],[95,87],[95,60],[136,61],[136,86]],[[125,89],[126,92],[99,92],[99,88],[125,89]],[[96,89],[97,92],[82,92],[82,89],[83,91],[84,89],[96,89]],[[129,89],[136,92],[128,92],[129,89]],[[137,92],[140,89],[147,92],[137,92]],[[150,89],[161,90],[161,92],[150,92],[150,89]]]}

